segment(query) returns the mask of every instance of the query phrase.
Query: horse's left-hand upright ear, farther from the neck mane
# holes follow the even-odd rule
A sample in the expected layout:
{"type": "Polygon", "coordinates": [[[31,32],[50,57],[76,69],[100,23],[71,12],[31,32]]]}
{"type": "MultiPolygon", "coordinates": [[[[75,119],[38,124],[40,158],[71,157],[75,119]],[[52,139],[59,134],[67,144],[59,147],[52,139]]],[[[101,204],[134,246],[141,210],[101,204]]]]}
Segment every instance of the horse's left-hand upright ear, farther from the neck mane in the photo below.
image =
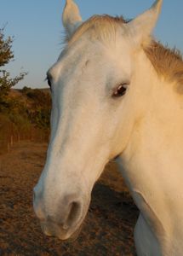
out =
{"type": "Polygon", "coordinates": [[[77,27],[82,23],[82,18],[79,13],[77,4],[72,0],[66,0],[66,6],[62,15],[63,25],[66,29],[66,35],[71,38],[71,35],[76,31],[77,27]]]}

